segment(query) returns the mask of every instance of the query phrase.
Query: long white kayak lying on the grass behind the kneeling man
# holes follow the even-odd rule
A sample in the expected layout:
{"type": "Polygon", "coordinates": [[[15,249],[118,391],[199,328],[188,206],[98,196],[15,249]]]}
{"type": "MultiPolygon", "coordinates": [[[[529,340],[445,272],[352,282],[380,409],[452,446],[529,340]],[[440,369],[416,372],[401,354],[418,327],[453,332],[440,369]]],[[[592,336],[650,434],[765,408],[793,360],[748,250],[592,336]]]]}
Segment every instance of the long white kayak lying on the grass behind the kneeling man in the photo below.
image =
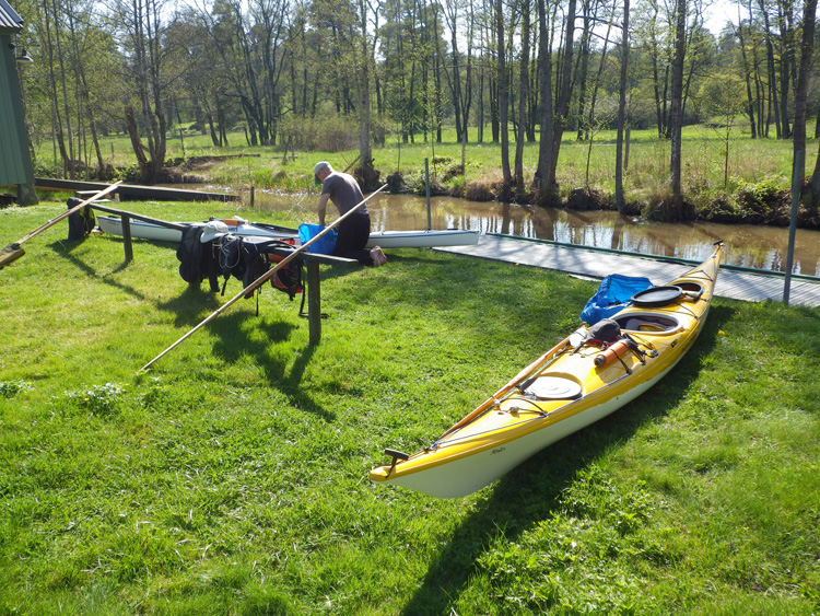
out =
{"type": "MultiPolygon", "coordinates": [[[[104,233],[122,235],[122,222],[119,218],[97,216],[97,225],[104,233]]],[[[274,226],[272,224],[247,222],[242,219],[223,219],[231,233],[256,237],[297,237],[295,229],[274,226]]],[[[185,222],[181,224],[201,224],[185,222]]],[[[131,237],[154,240],[157,242],[179,243],[180,231],[168,229],[152,222],[131,219],[131,237]]],[[[479,232],[466,229],[446,229],[433,231],[383,231],[371,233],[367,248],[431,248],[435,246],[470,246],[478,244],[479,232]]]]}

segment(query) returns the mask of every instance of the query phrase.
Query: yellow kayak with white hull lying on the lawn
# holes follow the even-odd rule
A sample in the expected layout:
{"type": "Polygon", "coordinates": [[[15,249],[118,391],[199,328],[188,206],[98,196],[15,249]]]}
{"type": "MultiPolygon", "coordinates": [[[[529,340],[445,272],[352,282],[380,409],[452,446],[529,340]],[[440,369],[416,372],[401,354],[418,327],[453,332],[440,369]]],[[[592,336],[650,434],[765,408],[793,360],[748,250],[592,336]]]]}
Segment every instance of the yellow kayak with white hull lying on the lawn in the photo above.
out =
{"type": "Polygon", "coordinates": [[[376,483],[440,498],[475,492],[537,452],[633,400],[698,338],[712,302],[721,248],[666,287],[581,327],[522,370],[430,446],[371,470],[376,483]]]}

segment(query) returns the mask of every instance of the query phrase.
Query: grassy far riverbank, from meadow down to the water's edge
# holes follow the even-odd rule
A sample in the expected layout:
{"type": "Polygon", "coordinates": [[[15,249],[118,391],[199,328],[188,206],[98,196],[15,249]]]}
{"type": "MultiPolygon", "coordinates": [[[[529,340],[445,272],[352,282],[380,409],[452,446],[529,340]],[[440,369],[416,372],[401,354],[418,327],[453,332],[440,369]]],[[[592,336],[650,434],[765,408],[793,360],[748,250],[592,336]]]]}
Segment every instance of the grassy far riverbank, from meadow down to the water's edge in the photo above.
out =
{"type": "MultiPolygon", "coordinates": [[[[109,178],[137,182],[132,154],[124,138],[107,138],[104,150],[113,154],[109,178]],[[115,154],[116,152],[116,154],[115,154]]],[[[243,143],[242,135],[232,135],[232,143],[243,143]]],[[[644,220],[672,220],[668,187],[669,143],[652,129],[633,130],[629,165],[625,171],[625,197],[630,216],[644,220]]],[[[809,140],[808,151],[817,151],[809,140]]],[[[213,148],[209,138],[188,133],[184,141],[168,141],[168,183],[202,182],[224,186],[232,191],[249,187],[290,194],[315,190],[313,165],[330,161],[335,167],[355,167],[356,151],[289,152],[277,147],[236,144],[213,148]]],[[[387,183],[395,194],[425,193],[424,161],[427,160],[433,195],[464,197],[472,201],[493,201],[503,197],[500,146],[470,142],[462,149],[450,130],[441,143],[388,142],[373,150],[377,182],[387,183]]],[[[614,210],[614,133],[600,131],[594,142],[576,141],[567,136],[558,166],[559,187],[554,206],[574,211],[614,210]]],[[[528,142],[523,151],[525,177],[531,179],[538,159],[538,144],[528,142]]],[[[682,219],[741,224],[785,226],[790,218],[792,142],[777,139],[750,139],[742,127],[730,138],[717,136],[708,126],[689,126],[683,131],[682,219]],[[726,156],[726,148],[729,156],[726,156]],[[726,166],[728,165],[728,166],[726,166]]],[[[807,160],[810,172],[813,160],[807,160]]],[[[534,194],[527,188],[509,196],[528,205],[534,194]]],[[[820,229],[817,208],[800,206],[798,226],[820,229]]]]}

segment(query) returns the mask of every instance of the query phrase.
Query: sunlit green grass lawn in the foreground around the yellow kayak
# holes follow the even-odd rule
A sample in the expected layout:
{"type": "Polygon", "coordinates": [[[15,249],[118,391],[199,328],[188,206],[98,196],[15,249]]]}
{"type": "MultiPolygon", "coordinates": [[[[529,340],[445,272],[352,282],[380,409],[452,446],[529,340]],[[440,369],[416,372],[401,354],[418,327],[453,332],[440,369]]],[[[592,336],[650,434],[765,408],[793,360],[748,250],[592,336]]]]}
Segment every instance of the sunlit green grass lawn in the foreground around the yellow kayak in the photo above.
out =
{"type": "MultiPolygon", "coordinates": [[[[61,211],[0,210],[0,244],[61,211]]],[[[820,612],[817,310],[717,299],[647,394],[436,500],[367,472],[563,338],[596,283],[394,251],[324,270],[318,346],[267,287],[137,374],[238,281],[66,236],[0,271],[0,615],[820,612]]]]}

